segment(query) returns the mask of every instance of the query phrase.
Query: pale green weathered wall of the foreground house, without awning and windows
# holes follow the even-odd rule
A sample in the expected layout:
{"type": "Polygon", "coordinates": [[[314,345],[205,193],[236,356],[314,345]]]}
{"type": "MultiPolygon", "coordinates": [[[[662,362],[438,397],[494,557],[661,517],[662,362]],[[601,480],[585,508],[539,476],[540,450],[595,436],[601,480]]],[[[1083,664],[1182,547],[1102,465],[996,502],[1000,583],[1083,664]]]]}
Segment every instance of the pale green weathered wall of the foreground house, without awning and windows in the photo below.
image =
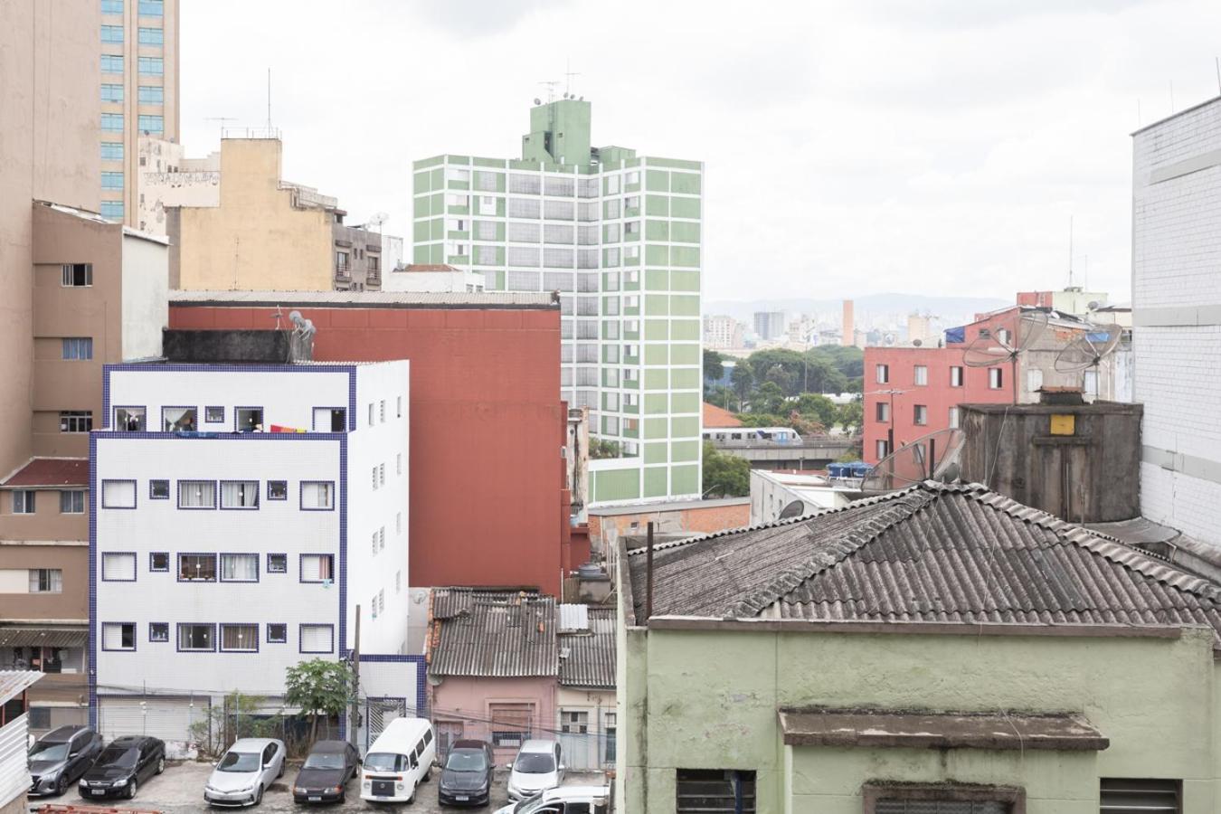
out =
{"type": "Polygon", "coordinates": [[[1216,810],[1211,630],[1176,639],[631,629],[625,639],[628,814],[674,812],[678,768],[755,770],[759,812],[857,814],[867,780],[955,780],[1022,786],[1032,814],[1088,814],[1099,777],[1182,779],[1184,813],[1216,810]],[[785,747],[777,709],[802,705],[1076,711],[1110,747],[785,747]]]}

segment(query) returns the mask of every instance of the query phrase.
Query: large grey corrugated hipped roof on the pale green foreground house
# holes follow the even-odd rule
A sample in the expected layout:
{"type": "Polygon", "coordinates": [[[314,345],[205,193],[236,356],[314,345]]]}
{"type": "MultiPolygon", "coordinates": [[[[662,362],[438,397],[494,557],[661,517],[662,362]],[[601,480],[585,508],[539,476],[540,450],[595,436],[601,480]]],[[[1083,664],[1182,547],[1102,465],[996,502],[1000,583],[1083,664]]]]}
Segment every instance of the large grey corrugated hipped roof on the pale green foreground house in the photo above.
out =
{"type": "MultiPolygon", "coordinates": [[[[643,619],[645,555],[629,556],[643,619]]],[[[1206,625],[1216,583],[980,484],[921,483],[844,509],[654,549],[653,615],[1206,625]]],[[[1221,642],[1221,637],[1219,637],[1221,642]]]]}

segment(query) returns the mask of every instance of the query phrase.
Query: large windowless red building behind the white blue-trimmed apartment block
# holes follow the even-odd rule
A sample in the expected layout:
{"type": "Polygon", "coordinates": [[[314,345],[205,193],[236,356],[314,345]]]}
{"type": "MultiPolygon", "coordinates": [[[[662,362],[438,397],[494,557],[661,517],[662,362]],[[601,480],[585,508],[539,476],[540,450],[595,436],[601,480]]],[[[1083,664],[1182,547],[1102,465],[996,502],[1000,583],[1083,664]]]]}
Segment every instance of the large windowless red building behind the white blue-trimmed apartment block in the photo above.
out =
{"type": "Polygon", "coordinates": [[[172,292],[170,327],[313,320],[314,359],[411,364],[411,587],[558,596],[569,539],[559,304],[549,294],[172,292]]]}

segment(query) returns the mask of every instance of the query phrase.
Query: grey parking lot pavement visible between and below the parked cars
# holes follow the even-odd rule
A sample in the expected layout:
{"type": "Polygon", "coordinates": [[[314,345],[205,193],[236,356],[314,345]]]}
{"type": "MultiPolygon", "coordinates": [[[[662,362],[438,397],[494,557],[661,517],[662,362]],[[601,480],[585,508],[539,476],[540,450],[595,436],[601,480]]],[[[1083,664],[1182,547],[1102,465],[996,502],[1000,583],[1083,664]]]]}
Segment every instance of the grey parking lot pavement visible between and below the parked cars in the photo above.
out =
{"type": "MultiPolygon", "coordinates": [[[[263,797],[263,804],[259,807],[261,812],[294,812],[300,810],[304,807],[298,807],[293,803],[292,781],[297,776],[298,765],[289,765],[284,771],[283,779],[275,783],[271,788],[266,791],[263,797]]],[[[208,810],[204,804],[204,782],[208,780],[208,775],[212,771],[212,764],[210,763],[171,763],[166,766],[165,774],[154,777],[139,788],[139,793],[136,799],[122,799],[112,801],[106,803],[106,805],[112,805],[117,810],[132,809],[139,812],[161,812],[161,814],[195,814],[198,812],[208,810]]],[[[415,803],[413,804],[389,804],[389,803],[368,803],[360,799],[360,792],[357,787],[357,781],[352,781],[348,785],[348,801],[342,805],[324,805],[319,807],[321,810],[328,813],[337,812],[370,812],[370,810],[383,810],[383,812],[413,812],[413,814],[433,814],[436,812],[458,812],[462,809],[444,808],[442,809],[437,804],[437,779],[440,771],[432,771],[432,780],[430,782],[420,786],[419,792],[415,796],[415,803]]],[[[498,771],[496,777],[496,786],[492,788],[492,805],[490,809],[480,810],[496,810],[501,805],[508,802],[508,797],[504,792],[504,783],[508,779],[508,773],[498,771]]],[[[601,783],[606,782],[601,773],[596,774],[576,774],[569,773],[565,785],[579,785],[579,783],[601,783]]],[[[59,798],[45,798],[45,799],[31,799],[29,810],[38,812],[43,805],[48,803],[57,803],[61,805],[73,804],[79,805],[85,803],[76,793],[76,790],[68,791],[63,797],[59,798]]],[[[99,804],[99,803],[90,803],[99,804]]],[[[223,810],[223,809],[214,809],[223,810]]]]}

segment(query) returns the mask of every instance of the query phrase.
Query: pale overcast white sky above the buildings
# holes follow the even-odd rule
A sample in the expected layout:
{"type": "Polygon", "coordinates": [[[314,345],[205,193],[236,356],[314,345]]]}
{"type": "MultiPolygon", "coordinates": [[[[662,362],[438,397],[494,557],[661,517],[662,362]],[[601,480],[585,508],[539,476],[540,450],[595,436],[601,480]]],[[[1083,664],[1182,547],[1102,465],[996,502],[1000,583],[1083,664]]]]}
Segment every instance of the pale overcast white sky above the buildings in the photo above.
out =
{"type": "Polygon", "coordinates": [[[1128,134],[1221,52],[1217,0],[182,6],[188,155],[265,124],[270,67],[284,177],[408,243],[411,161],[515,156],[570,61],[595,144],[706,162],[707,299],[1010,299],[1066,284],[1070,216],[1078,282],[1128,299],[1128,134]]]}

